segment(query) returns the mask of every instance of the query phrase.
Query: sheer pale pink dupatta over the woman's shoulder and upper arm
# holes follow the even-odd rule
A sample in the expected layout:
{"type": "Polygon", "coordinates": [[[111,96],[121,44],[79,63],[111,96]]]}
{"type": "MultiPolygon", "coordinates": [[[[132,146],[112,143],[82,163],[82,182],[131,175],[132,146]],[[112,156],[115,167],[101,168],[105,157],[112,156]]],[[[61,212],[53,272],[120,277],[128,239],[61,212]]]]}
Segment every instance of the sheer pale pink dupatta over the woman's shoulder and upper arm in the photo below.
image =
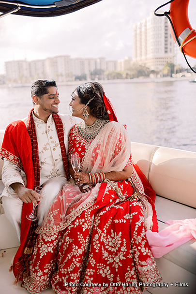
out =
{"type": "Polygon", "coordinates": [[[111,121],[91,143],[82,162],[86,173],[122,171],[131,154],[131,142],[124,126],[111,121]]]}

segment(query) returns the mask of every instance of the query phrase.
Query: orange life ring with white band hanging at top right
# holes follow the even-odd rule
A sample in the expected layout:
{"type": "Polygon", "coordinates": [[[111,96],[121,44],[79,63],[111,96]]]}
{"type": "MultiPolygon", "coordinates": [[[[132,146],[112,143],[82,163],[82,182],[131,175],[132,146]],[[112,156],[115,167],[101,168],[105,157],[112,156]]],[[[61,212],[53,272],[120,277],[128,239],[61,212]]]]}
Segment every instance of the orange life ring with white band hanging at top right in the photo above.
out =
{"type": "MultiPolygon", "coordinates": [[[[189,0],[174,0],[170,4],[169,16],[181,47],[183,47],[184,54],[196,58],[196,31],[189,22],[188,4],[189,0]]],[[[177,43],[171,26],[170,31],[174,41],[177,43]]]]}

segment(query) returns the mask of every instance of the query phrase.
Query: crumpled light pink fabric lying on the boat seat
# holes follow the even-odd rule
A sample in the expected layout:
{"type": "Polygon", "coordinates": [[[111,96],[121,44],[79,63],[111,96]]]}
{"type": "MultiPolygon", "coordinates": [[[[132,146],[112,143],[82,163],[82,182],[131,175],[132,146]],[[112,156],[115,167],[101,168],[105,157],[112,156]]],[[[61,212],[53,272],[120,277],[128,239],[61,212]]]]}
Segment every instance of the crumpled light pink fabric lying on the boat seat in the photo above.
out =
{"type": "Polygon", "coordinates": [[[162,257],[193,238],[196,239],[196,219],[169,220],[166,223],[170,226],[159,233],[146,231],[146,237],[155,258],[162,257]]]}

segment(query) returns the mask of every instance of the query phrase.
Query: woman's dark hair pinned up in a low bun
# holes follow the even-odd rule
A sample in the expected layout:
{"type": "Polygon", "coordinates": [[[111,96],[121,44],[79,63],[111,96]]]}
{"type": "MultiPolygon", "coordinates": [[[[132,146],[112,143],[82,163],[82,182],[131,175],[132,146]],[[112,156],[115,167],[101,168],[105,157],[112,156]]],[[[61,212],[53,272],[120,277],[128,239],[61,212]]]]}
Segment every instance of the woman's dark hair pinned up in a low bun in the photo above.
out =
{"type": "Polygon", "coordinates": [[[99,119],[109,119],[106,107],[103,101],[104,88],[98,82],[88,82],[76,88],[81,104],[88,104],[90,115],[99,119]]]}

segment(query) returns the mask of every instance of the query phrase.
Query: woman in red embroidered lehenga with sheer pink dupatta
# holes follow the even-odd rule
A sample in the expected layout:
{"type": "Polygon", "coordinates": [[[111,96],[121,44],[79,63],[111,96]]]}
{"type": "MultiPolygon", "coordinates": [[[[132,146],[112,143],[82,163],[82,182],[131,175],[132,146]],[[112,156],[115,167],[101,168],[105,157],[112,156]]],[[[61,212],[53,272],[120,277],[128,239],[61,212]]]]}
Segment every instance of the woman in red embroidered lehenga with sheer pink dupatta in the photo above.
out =
{"type": "Polygon", "coordinates": [[[145,232],[157,231],[155,193],[131,158],[131,142],[97,82],[72,93],[68,159],[80,171],[60,191],[23,270],[30,293],[141,294],[161,279],[145,232]],[[140,283],[140,284],[139,284],[140,283]],[[141,286],[140,286],[141,285],[141,286]]]}

